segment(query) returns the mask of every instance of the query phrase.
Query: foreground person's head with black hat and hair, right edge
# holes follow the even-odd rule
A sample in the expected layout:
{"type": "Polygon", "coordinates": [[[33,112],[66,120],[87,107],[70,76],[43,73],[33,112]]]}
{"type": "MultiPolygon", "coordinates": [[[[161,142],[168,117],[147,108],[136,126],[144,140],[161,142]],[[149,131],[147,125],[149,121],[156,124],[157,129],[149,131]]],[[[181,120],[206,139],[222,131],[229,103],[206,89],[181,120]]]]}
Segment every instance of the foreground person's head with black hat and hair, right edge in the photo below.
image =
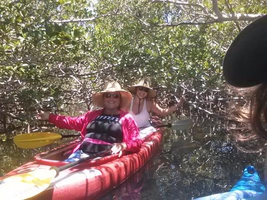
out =
{"type": "Polygon", "coordinates": [[[267,140],[267,15],[247,25],[231,43],[223,75],[232,86],[254,86],[248,119],[254,133],[267,140]]]}

